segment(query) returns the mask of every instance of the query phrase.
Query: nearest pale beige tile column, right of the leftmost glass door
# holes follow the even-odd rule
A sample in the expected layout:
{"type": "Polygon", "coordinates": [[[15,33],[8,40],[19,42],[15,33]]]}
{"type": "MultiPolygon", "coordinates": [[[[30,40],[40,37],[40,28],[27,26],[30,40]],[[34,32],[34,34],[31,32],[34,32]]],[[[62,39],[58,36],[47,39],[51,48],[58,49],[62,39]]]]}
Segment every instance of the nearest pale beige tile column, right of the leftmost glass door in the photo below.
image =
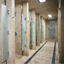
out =
{"type": "Polygon", "coordinates": [[[9,10],[9,63],[15,64],[15,0],[7,0],[9,10]]]}

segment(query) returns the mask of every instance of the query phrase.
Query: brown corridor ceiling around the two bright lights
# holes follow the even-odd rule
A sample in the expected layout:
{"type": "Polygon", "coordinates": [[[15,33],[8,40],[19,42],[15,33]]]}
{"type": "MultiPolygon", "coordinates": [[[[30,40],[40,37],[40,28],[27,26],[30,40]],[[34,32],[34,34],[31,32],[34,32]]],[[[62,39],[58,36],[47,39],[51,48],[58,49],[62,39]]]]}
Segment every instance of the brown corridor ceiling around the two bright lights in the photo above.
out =
{"type": "Polygon", "coordinates": [[[28,2],[30,9],[35,8],[36,13],[45,19],[48,18],[48,14],[52,14],[53,19],[57,18],[58,0],[46,0],[45,3],[39,3],[38,0],[28,0],[28,2]]]}

